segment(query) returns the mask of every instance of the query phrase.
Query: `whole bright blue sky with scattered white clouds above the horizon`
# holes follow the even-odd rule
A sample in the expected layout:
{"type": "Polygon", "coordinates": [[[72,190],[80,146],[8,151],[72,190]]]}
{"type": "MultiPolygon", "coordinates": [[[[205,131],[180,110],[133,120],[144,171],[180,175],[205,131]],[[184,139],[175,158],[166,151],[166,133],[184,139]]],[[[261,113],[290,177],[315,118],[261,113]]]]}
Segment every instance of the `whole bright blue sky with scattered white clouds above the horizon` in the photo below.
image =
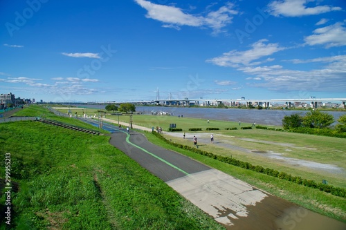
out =
{"type": "Polygon", "coordinates": [[[344,0],[1,1],[0,93],[346,97],[345,11],[344,0]]]}

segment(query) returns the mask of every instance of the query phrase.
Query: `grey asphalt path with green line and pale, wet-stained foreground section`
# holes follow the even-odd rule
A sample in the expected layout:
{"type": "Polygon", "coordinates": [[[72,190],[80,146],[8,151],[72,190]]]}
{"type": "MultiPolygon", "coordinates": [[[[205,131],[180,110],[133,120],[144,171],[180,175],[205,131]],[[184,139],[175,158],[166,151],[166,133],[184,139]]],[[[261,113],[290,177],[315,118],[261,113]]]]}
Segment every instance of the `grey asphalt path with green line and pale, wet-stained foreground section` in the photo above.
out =
{"type": "MultiPolygon", "coordinates": [[[[82,120],[94,126],[99,124],[92,119],[82,120]]],[[[190,157],[156,146],[142,133],[132,129],[128,133],[126,128],[107,123],[102,128],[111,132],[110,144],[161,178],[226,229],[346,229],[343,222],[298,207],[190,157]]]]}

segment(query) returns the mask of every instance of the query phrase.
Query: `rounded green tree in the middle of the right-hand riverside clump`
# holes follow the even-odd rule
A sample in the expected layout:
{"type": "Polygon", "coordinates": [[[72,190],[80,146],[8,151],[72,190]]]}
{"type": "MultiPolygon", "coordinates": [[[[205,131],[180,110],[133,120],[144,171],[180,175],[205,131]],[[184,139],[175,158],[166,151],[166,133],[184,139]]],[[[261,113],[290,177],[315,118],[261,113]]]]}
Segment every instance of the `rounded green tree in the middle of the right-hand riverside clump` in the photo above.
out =
{"type": "Polygon", "coordinates": [[[302,125],[310,128],[327,128],[334,123],[333,115],[320,111],[310,111],[304,117],[302,125]]]}

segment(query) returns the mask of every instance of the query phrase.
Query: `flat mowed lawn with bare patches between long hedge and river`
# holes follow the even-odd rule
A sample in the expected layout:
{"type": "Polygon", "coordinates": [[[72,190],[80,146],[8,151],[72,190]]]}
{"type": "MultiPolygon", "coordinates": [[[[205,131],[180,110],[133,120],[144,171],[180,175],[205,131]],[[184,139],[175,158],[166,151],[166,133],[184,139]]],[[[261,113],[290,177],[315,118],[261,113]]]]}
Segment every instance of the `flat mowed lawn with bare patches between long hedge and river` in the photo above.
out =
{"type": "MultiPolygon", "coordinates": [[[[118,121],[118,116],[107,115],[106,117],[118,121]]],[[[302,178],[316,182],[327,180],[333,186],[346,188],[346,141],[343,138],[258,128],[242,130],[241,127],[252,124],[242,123],[239,126],[237,122],[219,120],[210,120],[208,123],[206,119],[188,117],[133,115],[132,119],[133,124],[154,128],[158,126],[162,127],[163,131],[168,131],[170,124],[176,124],[176,128],[182,128],[185,131],[187,138],[183,140],[183,132],[165,135],[167,139],[174,142],[192,145],[192,136],[196,135],[201,143],[199,148],[203,150],[219,155],[232,155],[238,160],[277,169],[291,173],[291,175],[300,175],[302,178]],[[225,128],[234,127],[237,130],[225,130],[225,128]],[[189,128],[202,128],[202,131],[189,132],[189,128]],[[206,131],[206,128],[219,128],[219,131],[206,131]],[[210,143],[211,133],[215,136],[214,144],[210,143]],[[250,153],[239,151],[237,147],[244,148],[250,153]],[[291,161],[268,157],[268,155],[273,156],[275,154],[291,159],[291,161]],[[307,161],[304,162],[307,166],[298,164],[298,160],[307,161]],[[294,164],[295,161],[296,164],[294,164]],[[315,162],[320,163],[320,165],[315,166],[315,162]],[[321,169],[320,166],[325,166],[325,169],[321,169]],[[336,168],[336,170],[329,170],[329,167],[336,168]]],[[[129,122],[129,116],[119,116],[119,120],[120,122],[129,122]]],[[[281,128],[280,126],[267,127],[281,128]]]]}

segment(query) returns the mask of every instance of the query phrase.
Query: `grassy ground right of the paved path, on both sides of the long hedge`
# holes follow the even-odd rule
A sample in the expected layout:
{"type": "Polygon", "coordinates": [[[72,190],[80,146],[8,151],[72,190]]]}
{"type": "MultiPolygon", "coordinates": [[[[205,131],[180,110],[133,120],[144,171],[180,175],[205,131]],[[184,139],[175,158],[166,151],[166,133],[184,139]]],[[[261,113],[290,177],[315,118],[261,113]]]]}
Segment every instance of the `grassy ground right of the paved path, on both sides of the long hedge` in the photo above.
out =
{"type": "MultiPolygon", "coordinates": [[[[89,111],[89,109],[88,109],[89,111]]],[[[89,112],[88,112],[89,113],[89,112]]],[[[81,113],[82,114],[82,113],[81,113]]],[[[107,115],[107,118],[111,116],[107,115]]],[[[118,116],[113,116],[113,119],[118,121],[118,116]]],[[[119,116],[120,122],[129,122],[128,115],[119,116]]],[[[138,124],[146,127],[162,126],[163,130],[167,130],[170,123],[176,123],[177,127],[183,127],[184,130],[188,128],[203,128],[202,132],[196,132],[194,134],[202,135],[206,133],[205,129],[208,127],[219,127],[220,131],[212,131],[219,140],[215,142],[225,142],[225,144],[233,144],[235,146],[241,146],[243,148],[256,149],[258,151],[275,151],[283,152],[285,157],[294,157],[300,160],[316,161],[324,164],[336,164],[345,170],[345,142],[343,139],[336,137],[321,137],[314,135],[304,135],[298,133],[286,133],[279,131],[268,130],[235,130],[225,131],[225,127],[237,126],[239,124],[235,122],[222,122],[210,120],[208,124],[203,119],[192,119],[184,117],[183,119],[170,116],[149,116],[149,115],[134,115],[134,124],[138,124]],[[251,140],[251,141],[249,141],[251,140]],[[227,143],[230,142],[230,143],[227,143]],[[268,143],[270,142],[270,143],[268,143]],[[286,144],[283,146],[282,144],[286,144]],[[290,149],[291,151],[286,151],[290,149]]],[[[251,124],[242,124],[242,126],[249,126],[251,124]]],[[[240,169],[235,166],[230,166],[222,162],[217,162],[208,157],[196,155],[188,151],[184,151],[180,148],[174,148],[168,144],[163,143],[156,137],[149,133],[145,133],[151,142],[170,148],[179,153],[188,155],[196,160],[208,164],[215,169],[219,169],[230,175],[244,180],[260,189],[264,189],[269,193],[277,195],[289,200],[296,204],[306,207],[323,215],[328,215],[331,218],[336,218],[346,222],[346,200],[345,198],[336,197],[316,189],[307,188],[284,180],[278,180],[277,178],[269,177],[261,173],[240,169]]],[[[192,133],[188,133],[189,135],[192,133]]],[[[191,144],[190,140],[183,140],[182,133],[178,133],[179,137],[172,137],[166,135],[167,138],[172,139],[174,142],[180,142],[182,144],[191,144]]],[[[199,139],[201,140],[201,139],[199,139]]],[[[208,136],[206,137],[208,140],[208,136]]],[[[340,175],[330,175],[330,173],[320,173],[316,170],[311,170],[304,167],[290,166],[282,164],[282,162],[275,162],[269,160],[267,157],[257,155],[246,155],[241,151],[230,151],[228,148],[224,148],[221,144],[203,144],[200,146],[203,150],[210,151],[221,155],[232,155],[239,160],[245,160],[252,164],[258,164],[261,166],[268,166],[278,171],[284,171],[291,173],[292,175],[300,175],[302,178],[309,180],[328,180],[329,184],[333,186],[340,186],[345,188],[345,177],[340,175]],[[219,146],[218,146],[219,145],[219,146]]]]}

